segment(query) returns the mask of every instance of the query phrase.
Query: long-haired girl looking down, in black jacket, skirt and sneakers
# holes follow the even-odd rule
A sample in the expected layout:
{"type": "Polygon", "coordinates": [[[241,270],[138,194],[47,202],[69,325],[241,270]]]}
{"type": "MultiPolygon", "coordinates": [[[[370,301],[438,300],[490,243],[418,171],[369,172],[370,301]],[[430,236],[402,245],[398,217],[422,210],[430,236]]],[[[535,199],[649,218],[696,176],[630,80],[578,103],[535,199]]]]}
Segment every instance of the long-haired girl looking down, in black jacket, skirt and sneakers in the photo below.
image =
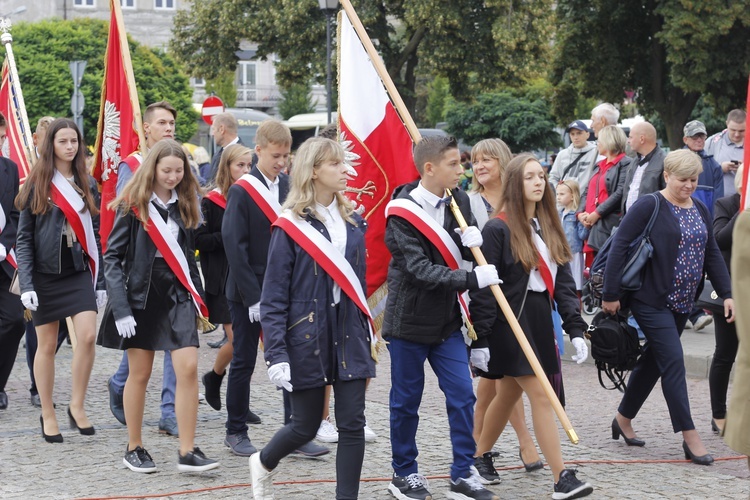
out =
{"type": "Polygon", "coordinates": [[[172,352],[180,429],[177,469],[201,472],[218,462],[194,446],[198,415],[196,319],[208,314],[195,263],[193,231],[200,224],[198,181],[177,142],[159,141],[122,193],[104,255],[111,300],[99,331],[104,347],[126,350],[130,373],[124,406],[128,445],[123,463],[134,472],[156,465],[141,439],[146,386],[154,351],[172,352]]]}

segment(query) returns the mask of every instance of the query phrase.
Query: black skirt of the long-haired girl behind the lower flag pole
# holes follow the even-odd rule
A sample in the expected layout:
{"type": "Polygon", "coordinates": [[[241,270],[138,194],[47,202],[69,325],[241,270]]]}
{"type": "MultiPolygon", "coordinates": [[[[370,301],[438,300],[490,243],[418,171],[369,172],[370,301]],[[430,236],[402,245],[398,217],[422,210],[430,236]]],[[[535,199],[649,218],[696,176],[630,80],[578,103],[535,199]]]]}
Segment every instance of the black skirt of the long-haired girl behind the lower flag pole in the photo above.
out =
{"type": "MultiPolygon", "coordinates": [[[[518,322],[542,365],[544,373],[547,376],[560,373],[559,357],[555,346],[555,329],[552,323],[552,307],[547,292],[528,292],[518,322]]],[[[509,377],[534,375],[508,323],[501,323],[501,327],[492,332],[488,338],[489,370],[486,374],[482,374],[483,376],[497,379],[506,375],[509,377]]]]}

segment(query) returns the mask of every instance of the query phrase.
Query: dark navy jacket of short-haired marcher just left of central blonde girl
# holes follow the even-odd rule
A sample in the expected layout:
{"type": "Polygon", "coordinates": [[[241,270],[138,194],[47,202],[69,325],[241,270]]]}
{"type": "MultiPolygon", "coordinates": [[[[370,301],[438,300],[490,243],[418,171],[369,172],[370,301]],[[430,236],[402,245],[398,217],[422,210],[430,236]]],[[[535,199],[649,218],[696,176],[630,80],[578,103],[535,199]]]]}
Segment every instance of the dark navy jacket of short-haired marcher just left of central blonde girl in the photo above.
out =
{"type": "MultiPolygon", "coordinates": [[[[250,175],[266,187],[263,174],[253,167],[250,175]]],[[[289,177],[279,174],[279,203],[289,193],[289,177]]],[[[232,185],[227,193],[227,209],[221,226],[224,252],[229,262],[227,299],[250,307],[260,302],[263,276],[271,242],[271,222],[242,186],[232,185]]]]}

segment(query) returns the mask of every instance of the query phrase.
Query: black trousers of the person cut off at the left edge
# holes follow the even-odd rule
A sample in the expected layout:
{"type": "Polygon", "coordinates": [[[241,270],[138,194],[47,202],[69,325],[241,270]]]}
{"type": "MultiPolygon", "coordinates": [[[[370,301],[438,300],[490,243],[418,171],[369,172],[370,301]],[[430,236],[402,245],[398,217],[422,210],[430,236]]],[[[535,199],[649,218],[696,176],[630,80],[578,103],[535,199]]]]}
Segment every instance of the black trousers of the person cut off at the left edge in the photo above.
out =
{"type": "Polygon", "coordinates": [[[10,293],[9,288],[10,278],[0,269],[0,391],[5,391],[25,332],[21,298],[10,293]]]}

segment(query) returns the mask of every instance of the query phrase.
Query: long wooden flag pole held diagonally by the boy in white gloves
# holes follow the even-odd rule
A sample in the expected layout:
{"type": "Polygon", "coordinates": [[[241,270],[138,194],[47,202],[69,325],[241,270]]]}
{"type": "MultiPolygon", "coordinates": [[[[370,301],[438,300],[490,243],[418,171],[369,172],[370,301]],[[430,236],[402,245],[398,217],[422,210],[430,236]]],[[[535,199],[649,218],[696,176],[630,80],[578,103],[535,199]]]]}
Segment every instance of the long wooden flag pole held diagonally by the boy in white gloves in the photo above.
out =
{"type": "MultiPolygon", "coordinates": [[[[414,143],[419,142],[422,139],[422,135],[419,133],[419,129],[417,128],[416,123],[414,123],[414,119],[411,117],[409,110],[406,109],[406,105],[401,99],[401,96],[399,95],[398,90],[393,83],[393,80],[391,79],[388,71],[385,68],[385,65],[383,64],[383,61],[380,59],[380,55],[378,54],[377,50],[375,50],[375,46],[372,44],[372,40],[370,40],[370,37],[367,35],[367,31],[362,25],[362,21],[359,20],[359,16],[357,16],[357,13],[354,11],[354,7],[352,7],[350,0],[340,0],[340,2],[341,6],[344,8],[344,11],[346,11],[346,14],[349,16],[349,20],[351,21],[354,30],[357,32],[357,35],[359,35],[359,39],[362,42],[367,55],[370,57],[370,61],[375,67],[378,76],[383,81],[383,85],[385,85],[385,88],[388,91],[391,100],[393,101],[393,105],[398,111],[398,114],[401,116],[401,119],[403,120],[404,125],[406,126],[406,130],[409,132],[412,141],[414,143]]],[[[452,195],[450,190],[446,190],[446,195],[452,195]]],[[[461,213],[461,210],[458,208],[455,200],[451,201],[451,211],[453,212],[453,216],[456,218],[456,221],[458,221],[461,229],[465,230],[467,227],[466,220],[464,219],[464,216],[461,213]]],[[[472,248],[471,252],[474,255],[474,259],[476,260],[478,265],[481,266],[487,264],[487,259],[485,259],[484,254],[482,254],[482,251],[478,247],[472,248]]],[[[497,303],[500,306],[500,309],[503,311],[503,314],[507,318],[511,329],[513,330],[513,334],[516,337],[516,340],[518,341],[521,349],[526,355],[526,359],[528,359],[529,364],[534,371],[534,375],[536,375],[537,380],[539,380],[539,383],[542,385],[542,389],[547,395],[552,408],[555,410],[557,418],[560,420],[560,423],[565,429],[565,433],[568,435],[568,439],[570,439],[571,443],[578,444],[578,435],[573,429],[573,426],[565,413],[565,409],[560,404],[560,400],[555,394],[554,389],[552,389],[552,385],[547,378],[547,374],[544,372],[544,368],[542,368],[542,365],[539,363],[539,360],[537,359],[536,354],[531,347],[531,344],[529,344],[529,340],[526,338],[526,335],[521,329],[521,325],[518,323],[518,320],[513,313],[513,309],[511,309],[510,305],[508,304],[508,300],[505,298],[502,289],[498,285],[492,285],[490,288],[493,295],[495,296],[495,300],[497,300],[497,303]]]]}

